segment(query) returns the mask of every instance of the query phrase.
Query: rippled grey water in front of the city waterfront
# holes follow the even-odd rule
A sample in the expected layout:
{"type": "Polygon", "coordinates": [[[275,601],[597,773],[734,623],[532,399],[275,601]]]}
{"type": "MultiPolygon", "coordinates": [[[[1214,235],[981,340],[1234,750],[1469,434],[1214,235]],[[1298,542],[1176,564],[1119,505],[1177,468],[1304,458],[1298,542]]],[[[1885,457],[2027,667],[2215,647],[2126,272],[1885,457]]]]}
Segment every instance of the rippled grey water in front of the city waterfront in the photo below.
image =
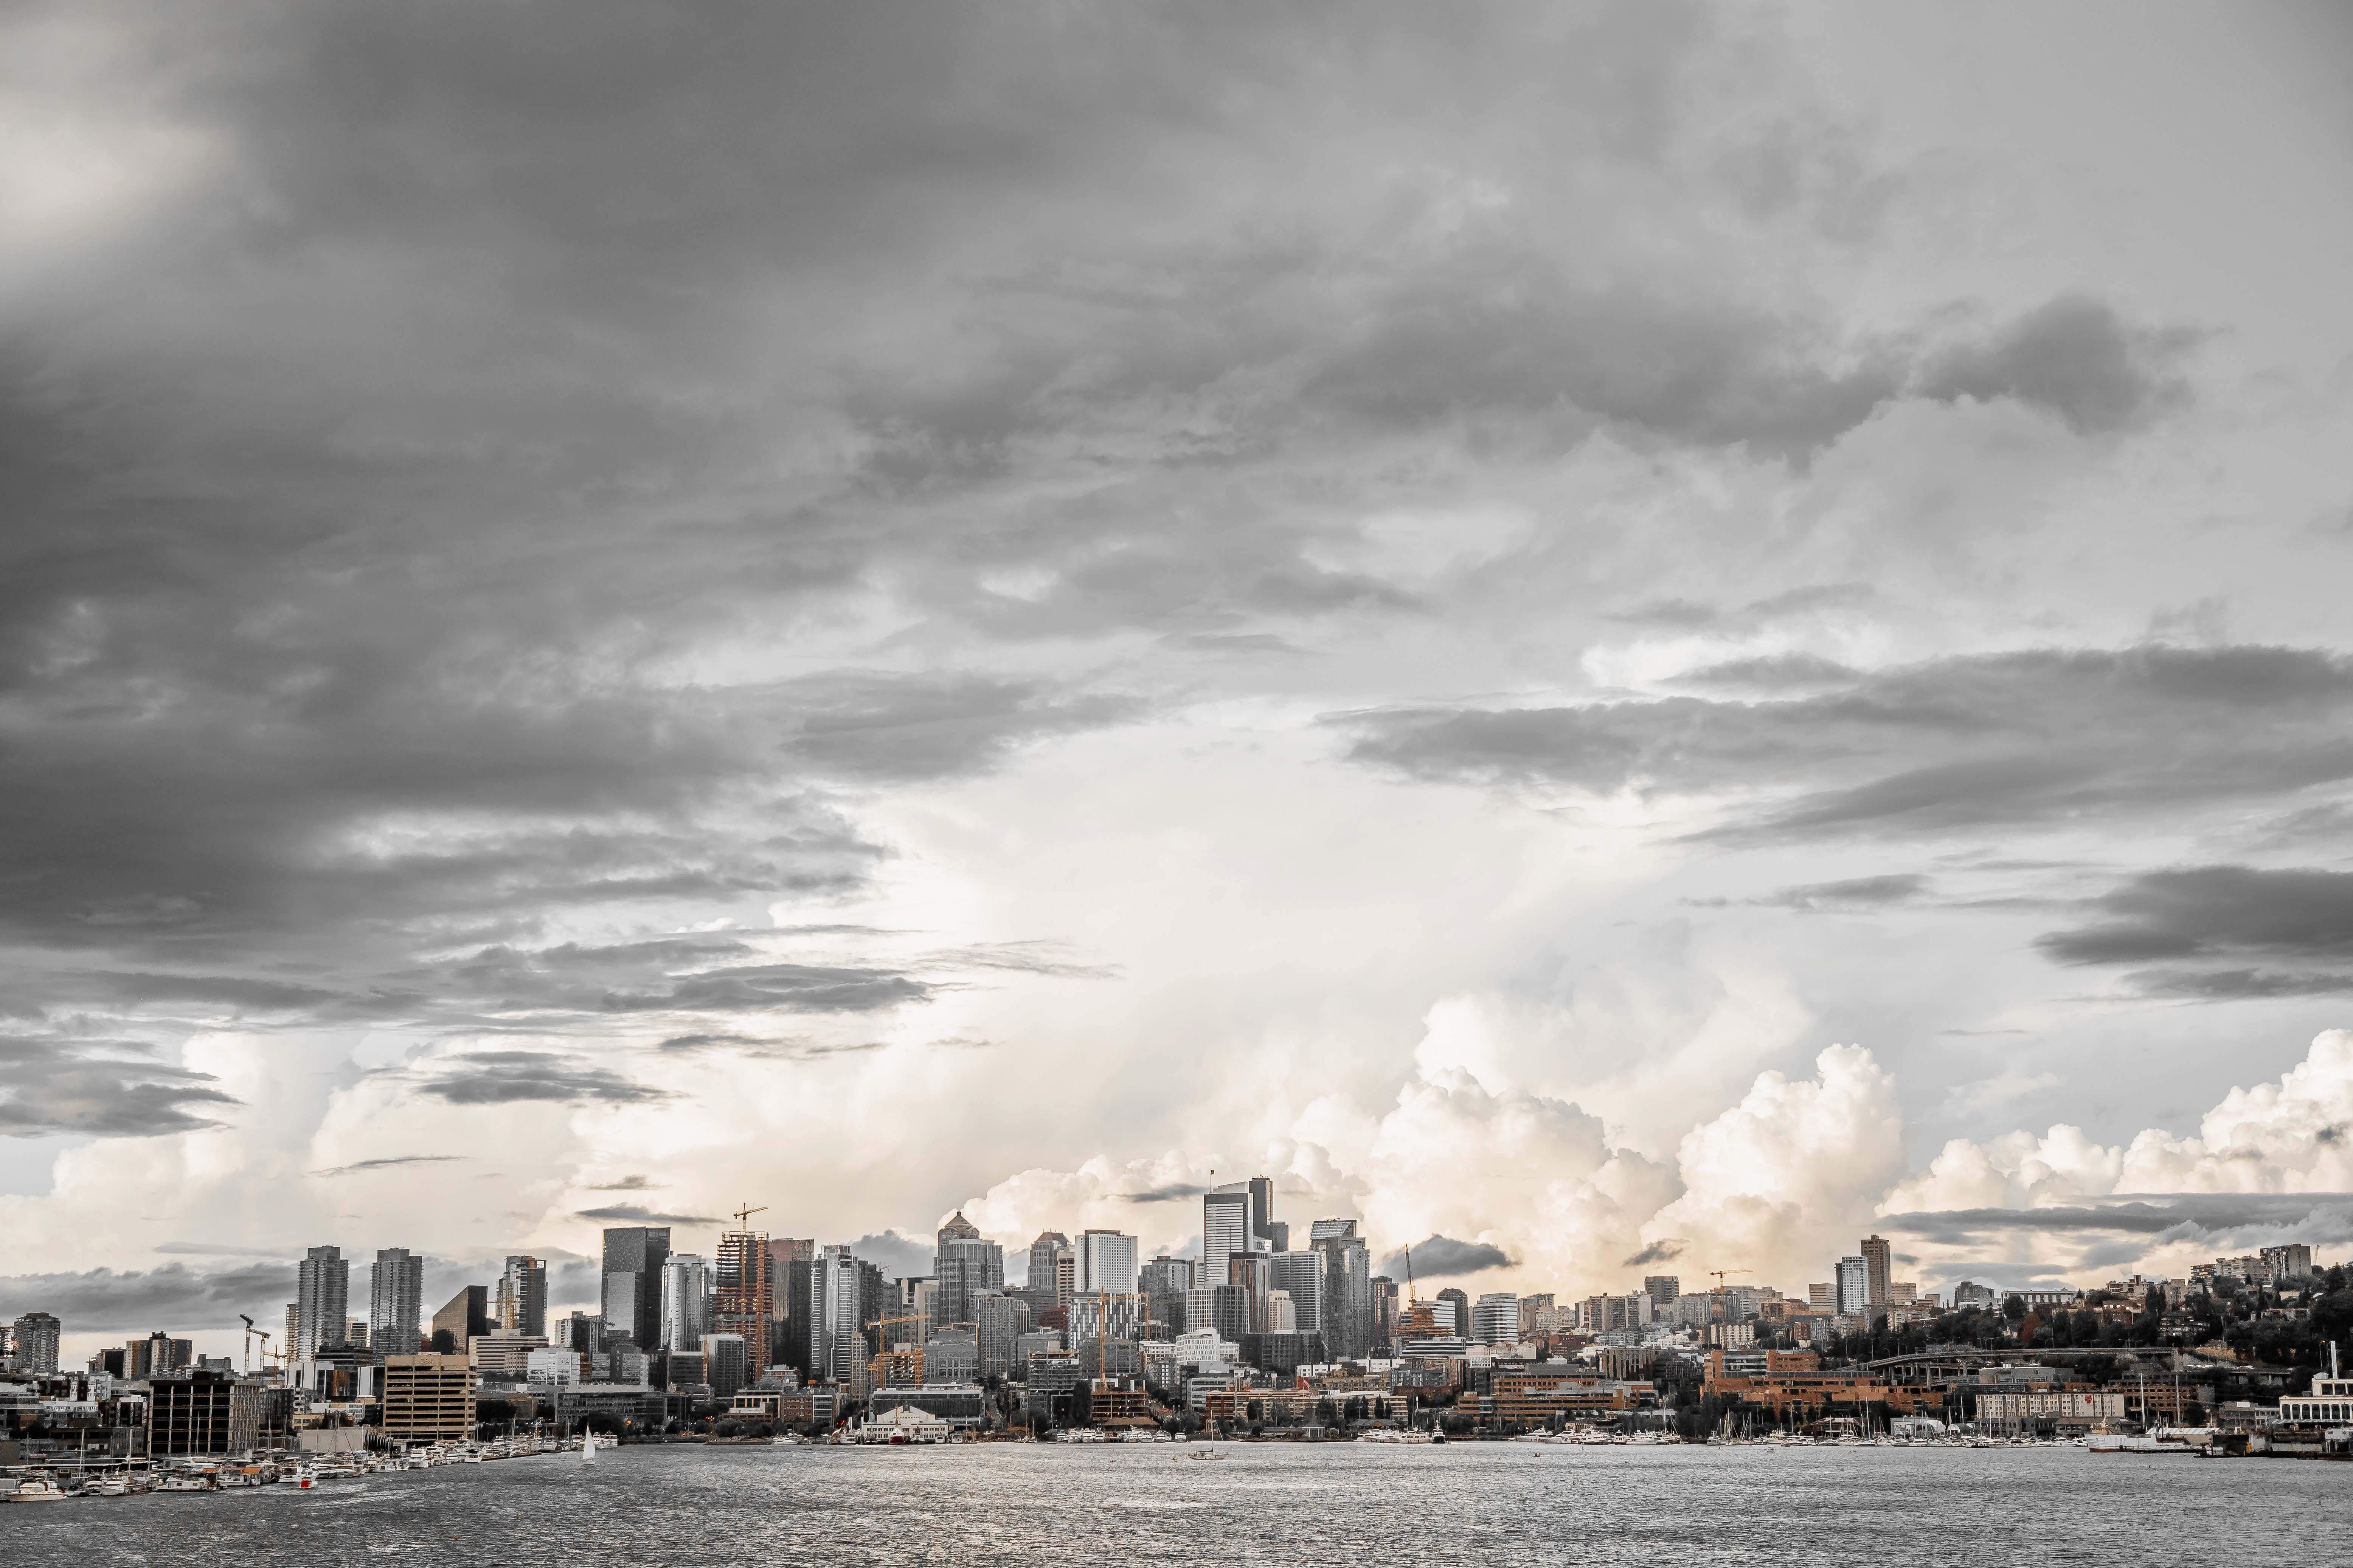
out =
{"type": "Polygon", "coordinates": [[[619,1448],[0,1507],[0,1563],[2353,1563],[2353,1465],[2080,1448],[619,1448]]]}

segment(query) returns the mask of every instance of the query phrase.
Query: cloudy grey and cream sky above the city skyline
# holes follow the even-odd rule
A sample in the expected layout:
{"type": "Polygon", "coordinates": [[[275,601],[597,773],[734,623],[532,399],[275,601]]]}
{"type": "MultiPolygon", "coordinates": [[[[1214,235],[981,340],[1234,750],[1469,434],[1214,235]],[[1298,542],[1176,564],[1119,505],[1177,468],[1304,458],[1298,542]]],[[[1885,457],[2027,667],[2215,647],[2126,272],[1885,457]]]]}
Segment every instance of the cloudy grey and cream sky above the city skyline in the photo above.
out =
{"type": "Polygon", "coordinates": [[[2344,1255],[2348,61],[9,7],[0,1307],[1257,1171],[1480,1288],[2344,1255]]]}

